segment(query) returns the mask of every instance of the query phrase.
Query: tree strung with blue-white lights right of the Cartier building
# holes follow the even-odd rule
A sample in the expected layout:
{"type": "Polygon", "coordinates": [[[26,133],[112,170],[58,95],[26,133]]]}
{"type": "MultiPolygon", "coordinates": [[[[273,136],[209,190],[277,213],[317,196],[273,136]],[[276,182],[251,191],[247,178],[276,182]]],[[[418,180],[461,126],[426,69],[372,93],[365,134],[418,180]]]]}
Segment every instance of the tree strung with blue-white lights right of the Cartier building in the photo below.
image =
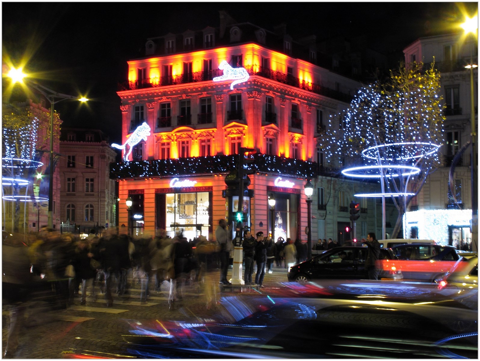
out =
{"type": "Polygon", "coordinates": [[[384,81],[362,87],[344,113],[330,118],[328,161],[342,168],[365,166],[365,177],[380,175],[382,193],[397,194],[391,196],[399,213],[392,238],[412,198],[440,166],[437,150],[444,143],[445,120],[441,100],[434,63],[425,69],[413,62],[390,71],[384,81]],[[420,168],[420,173],[409,175],[402,167],[420,168]]]}

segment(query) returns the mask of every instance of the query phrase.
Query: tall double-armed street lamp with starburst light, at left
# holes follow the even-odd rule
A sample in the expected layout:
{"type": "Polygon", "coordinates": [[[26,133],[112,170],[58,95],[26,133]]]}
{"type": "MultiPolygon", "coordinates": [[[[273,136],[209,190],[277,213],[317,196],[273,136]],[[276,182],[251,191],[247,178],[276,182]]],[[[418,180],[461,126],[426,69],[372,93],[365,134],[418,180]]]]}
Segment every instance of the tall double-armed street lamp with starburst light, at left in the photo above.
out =
{"type": "MultiPolygon", "coordinates": [[[[23,83],[24,78],[27,75],[22,69],[12,68],[8,72],[8,76],[12,79],[13,83],[23,83]]],[[[28,80],[28,85],[34,88],[37,92],[41,93],[50,102],[50,163],[48,166],[48,228],[53,228],[53,123],[55,119],[55,104],[65,99],[77,99],[81,102],[88,101],[87,98],[82,96],[71,96],[66,94],[57,93],[46,86],[38,84],[33,80],[28,80]]]]}

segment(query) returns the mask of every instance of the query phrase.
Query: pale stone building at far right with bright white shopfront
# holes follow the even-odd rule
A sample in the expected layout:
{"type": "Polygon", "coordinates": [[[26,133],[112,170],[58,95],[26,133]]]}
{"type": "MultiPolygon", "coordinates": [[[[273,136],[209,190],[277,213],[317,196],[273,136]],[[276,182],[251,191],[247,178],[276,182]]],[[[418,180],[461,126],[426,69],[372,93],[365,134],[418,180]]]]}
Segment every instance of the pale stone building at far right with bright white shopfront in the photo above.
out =
{"type": "MultiPolygon", "coordinates": [[[[403,50],[406,63],[423,61],[427,66],[435,61],[441,72],[445,143],[440,148],[442,166],[429,175],[420,193],[412,199],[404,222],[406,237],[433,239],[456,247],[471,242],[472,209],[470,147],[471,93],[470,73],[465,65],[473,54],[478,64],[478,46],[471,36],[461,33],[421,37],[403,50]],[[458,160],[455,157],[458,155],[458,160]],[[452,165],[455,184],[450,187],[452,165]],[[452,192],[453,190],[453,192],[452,192]],[[434,225],[435,227],[431,227],[434,225]]],[[[478,101],[478,68],[474,70],[474,96],[478,101]]],[[[478,124],[478,103],[474,105],[478,124]]],[[[477,126],[476,126],[477,127],[477,126]]]]}

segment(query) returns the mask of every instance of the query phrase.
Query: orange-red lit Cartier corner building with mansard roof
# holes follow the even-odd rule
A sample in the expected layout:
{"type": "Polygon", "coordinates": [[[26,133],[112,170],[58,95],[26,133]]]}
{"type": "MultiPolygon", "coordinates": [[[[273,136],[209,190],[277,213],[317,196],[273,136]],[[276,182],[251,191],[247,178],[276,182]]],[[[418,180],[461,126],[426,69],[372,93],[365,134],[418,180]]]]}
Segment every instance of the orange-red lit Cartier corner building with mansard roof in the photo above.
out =
{"type": "MultiPolygon", "coordinates": [[[[346,108],[360,87],[316,62],[314,36],[294,41],[285,27],[272,32],[235,24],[225,12],[219,28],[148,39],[145,56],[128,61],[128,82],[118,92],[122,142],[144,122],[151,130],[133,147],[129,161],[111,167],[110,176],[119,181],[119,224],[128,224],[130,196],[134,234],[167,229],[173,235],[184,229],[187,238],[208,237],[218,219],[228,217],[225,177],[237,168],[239,148],[247,147],[257,151],[248,187],[254,197],[244,204],[252,231],[270,230],[272,194],[276,238],[305,240],[306,179],[314,184],[316,218],[317,209],[326,209],[316,194],[322,177],[336,174],[324,167],[324,122],[346,108]],[[232,80],[214,81],[225,74],[218,69],[224,60],[244,68],[249,79],[233,89],[232,80]]],[[[336,210],[348,208],[350,193],[336,210]]],[[[342,217],[348,222],[345,209],[342,217]]],[[[336,234],[331,222],[328,232],[336,234]]],[[[312,222],[312,240],[318,227],[312,222]]]]}

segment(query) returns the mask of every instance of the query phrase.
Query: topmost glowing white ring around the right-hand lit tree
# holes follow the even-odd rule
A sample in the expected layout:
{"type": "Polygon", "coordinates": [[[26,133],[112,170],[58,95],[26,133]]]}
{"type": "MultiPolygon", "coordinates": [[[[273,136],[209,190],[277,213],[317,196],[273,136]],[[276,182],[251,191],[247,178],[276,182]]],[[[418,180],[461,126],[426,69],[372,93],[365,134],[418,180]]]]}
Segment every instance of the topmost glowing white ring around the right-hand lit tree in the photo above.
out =
{"type": "Polygon", "coordinates": [[[440,145],[433,144],[429,142],[401,142],[401,143],[389,143],[389,144],[381,144],[381,145],[374,145],[367,149],[362,150],[361,155],[370,158],[370,159],[379,159],[379,160],[408,160],[408,159],[415,159],[420,158],[422,156],[430,156],[433,153],[436,153],[440,145]],[[423,149],[426,147],[430,147],[429,150],[423,149]],[[413,148],[412,150],[408,151],[406,147],[413,148]],[[398,156],[396,158],[391,157],[387,158],[385,155],[381,156],[380,151],[383,150],[383,153],[386,153],[390,150],[391,153],[403,153],[409,152],[411,154],[405,156],[398,156]],[[398,150],[401,150],[398,152],[398,150]],[[420,153],[419,153],[420,151],[420,153]]]}

